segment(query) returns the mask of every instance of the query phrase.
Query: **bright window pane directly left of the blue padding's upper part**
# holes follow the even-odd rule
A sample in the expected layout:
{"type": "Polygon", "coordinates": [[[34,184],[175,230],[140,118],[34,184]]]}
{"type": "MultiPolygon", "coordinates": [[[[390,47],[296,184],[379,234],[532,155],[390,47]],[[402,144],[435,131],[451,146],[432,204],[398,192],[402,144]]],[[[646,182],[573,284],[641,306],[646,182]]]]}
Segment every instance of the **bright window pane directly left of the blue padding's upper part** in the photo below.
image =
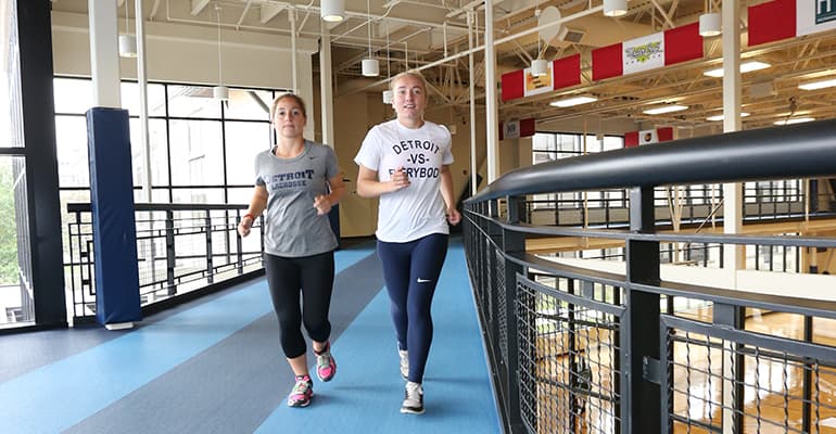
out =
{"type": "Polygon", "coordinates": [[[87,119],[84,116],[55,116],[59,186],[89,187],[87,119]]]}

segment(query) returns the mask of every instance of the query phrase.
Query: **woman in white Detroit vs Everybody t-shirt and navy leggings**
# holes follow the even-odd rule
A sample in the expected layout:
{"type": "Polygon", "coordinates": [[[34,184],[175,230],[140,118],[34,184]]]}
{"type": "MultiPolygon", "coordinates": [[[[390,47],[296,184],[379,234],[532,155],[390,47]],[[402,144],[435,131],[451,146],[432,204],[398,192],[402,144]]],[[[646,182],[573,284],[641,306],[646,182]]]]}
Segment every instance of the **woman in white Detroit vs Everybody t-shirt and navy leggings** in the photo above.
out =
{"type": "Polygon", "coordinates": [[[378,255],[392,302],[401,374],[407,380],[401,412],[423,412],[423,371],[432,343],[431,304],[447,253],[451,225],[461,219],[453,195],[451,135],[423,120],[427,82],[408,71],[390,82],[394,120],[363,140],[357,193],[380,197],[378,255]]]}

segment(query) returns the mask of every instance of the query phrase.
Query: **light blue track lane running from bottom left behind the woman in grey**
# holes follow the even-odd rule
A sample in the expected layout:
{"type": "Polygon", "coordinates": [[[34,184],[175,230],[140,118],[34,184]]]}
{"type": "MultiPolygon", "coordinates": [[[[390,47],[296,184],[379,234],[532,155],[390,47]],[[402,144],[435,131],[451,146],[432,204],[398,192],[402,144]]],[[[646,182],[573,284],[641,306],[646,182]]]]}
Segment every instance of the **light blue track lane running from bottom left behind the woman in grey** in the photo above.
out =
{"type": "MultiPolygon", "coordinates": [[[[373,253],[340,251],[337,272],[373,253]]],[[[53,434],[78,423],[273,311],[264,281],[0,384],[0,432],[53,434]]]]}

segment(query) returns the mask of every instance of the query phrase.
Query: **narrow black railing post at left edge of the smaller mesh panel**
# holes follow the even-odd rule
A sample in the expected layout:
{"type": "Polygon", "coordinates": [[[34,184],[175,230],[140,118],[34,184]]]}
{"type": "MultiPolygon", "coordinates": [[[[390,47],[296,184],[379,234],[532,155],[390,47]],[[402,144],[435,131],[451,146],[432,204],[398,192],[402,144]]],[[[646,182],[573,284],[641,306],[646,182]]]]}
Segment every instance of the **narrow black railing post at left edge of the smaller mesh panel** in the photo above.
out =
{"type": "MultiPolygon", "coordinates": [[[[508,197],[507,222],[516,225],[520,222],[521,197],[508,197]]],[[[510,229],[503,229],[503,253],[506,255],[525,251],[525,235],[510,229]]],[[[507,327],[507,400],[506,411],[508,416],[508,431],[521,433],[524,431],[520,411],[520,357],[517,330],[517,275],[523,275],[523,267],[507,257],[505,258],[505,312],[508,316],[507,327]]],[[[532,357],[534,359],[534,357],[532,357]]]]}

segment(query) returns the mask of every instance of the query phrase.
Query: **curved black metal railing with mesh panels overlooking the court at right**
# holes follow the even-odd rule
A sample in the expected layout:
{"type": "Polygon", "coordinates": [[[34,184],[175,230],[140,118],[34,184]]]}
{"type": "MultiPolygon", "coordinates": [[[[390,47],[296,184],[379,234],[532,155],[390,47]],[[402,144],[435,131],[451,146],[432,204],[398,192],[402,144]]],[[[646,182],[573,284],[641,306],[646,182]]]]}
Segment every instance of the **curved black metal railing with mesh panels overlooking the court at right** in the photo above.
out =
{"type": "Polygon", "coordinates": [[[655,189],[831,177],[833,131],[826,120],[550,162],[468,200],[468,269],[507,431],[826,432],[836,297],[833,278],[815,273],[836,239],[814,234],[831,220],[810,231],[810,213],[787,215],[801,220],[775,234],[662,231],[655,189]],[[628,227],[525,221],[534,194],[605,189],[629,192],[628,227]],[[547,250],[544,239],[577,251],[612,241],[623,261],[529,252],[535,241],[547,250]],[[726,257],[663,264],[670,244],[726,257]],[[790,252],[798,267],[764,270],[770,251],[770,264],[790,252]]]}

